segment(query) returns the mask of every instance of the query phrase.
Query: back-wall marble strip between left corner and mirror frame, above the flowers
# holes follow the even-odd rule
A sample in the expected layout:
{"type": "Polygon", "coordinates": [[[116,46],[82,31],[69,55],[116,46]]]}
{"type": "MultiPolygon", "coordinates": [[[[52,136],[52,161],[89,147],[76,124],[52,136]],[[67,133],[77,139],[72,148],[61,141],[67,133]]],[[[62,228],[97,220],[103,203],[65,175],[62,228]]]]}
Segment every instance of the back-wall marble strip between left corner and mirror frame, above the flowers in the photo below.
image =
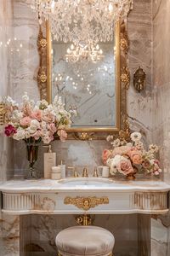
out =
{"type": "Polygon", "coordinates": [[[21,96],[26,91],[32,99],[38,100],[38,21],[31,9],[31,0],[14,0],[13,9],[14,51],[10,61],[11,95],[20,102],[21,96]]]}

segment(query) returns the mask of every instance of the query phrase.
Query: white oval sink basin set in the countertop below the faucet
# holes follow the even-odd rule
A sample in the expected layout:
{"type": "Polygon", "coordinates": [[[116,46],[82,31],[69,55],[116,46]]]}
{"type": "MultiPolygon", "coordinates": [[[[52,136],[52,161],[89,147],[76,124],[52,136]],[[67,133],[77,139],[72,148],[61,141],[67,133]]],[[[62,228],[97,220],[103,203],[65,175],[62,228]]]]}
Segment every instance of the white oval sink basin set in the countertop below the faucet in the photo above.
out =
{"type": "Polygon", "coordinates": [[[59,180],[59,183],[69,187],[83,185],[100,187],[110,185],[113,181],[105,177],[70,177],[59,180]]]}

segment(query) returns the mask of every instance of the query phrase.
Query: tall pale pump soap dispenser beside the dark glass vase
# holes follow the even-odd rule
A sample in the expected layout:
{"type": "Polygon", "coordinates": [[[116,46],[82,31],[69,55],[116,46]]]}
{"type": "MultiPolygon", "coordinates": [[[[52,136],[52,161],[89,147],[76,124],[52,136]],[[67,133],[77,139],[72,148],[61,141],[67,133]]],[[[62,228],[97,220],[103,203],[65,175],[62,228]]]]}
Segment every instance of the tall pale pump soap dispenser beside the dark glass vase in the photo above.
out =
{"type": "MultiPolygon", "coordinates": [[[[45,146],[46,147],[46,146],[45,146]]],[[[56,166],[56,153],[52,152],[51,145],[48,145],[48,153],[44,153],[44,177],[51,178],[51,168],[56,166]]]]}

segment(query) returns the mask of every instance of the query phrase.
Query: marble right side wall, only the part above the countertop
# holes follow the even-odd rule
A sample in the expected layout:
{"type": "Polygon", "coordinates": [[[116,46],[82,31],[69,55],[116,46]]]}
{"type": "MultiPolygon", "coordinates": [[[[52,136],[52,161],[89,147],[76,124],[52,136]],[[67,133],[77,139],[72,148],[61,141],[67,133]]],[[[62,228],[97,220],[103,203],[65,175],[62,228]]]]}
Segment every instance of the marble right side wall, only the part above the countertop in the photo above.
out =
{"type": "Polygon", "coordinates": [[[170,137],[170,49],[169,49],[169,11],[168,0],[153,0],[153,87],[154,87],[154,125],[153,139],[160,145],[161,164],[164,179],[170,182],[169,137],[170,137]]]}

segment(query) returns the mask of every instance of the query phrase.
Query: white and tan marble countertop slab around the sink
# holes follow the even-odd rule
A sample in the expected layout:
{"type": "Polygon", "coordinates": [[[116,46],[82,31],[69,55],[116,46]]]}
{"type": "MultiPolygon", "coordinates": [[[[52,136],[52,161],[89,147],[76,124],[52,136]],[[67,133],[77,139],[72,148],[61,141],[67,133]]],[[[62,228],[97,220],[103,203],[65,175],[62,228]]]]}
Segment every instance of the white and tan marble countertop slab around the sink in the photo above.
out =
{"type": "MultiPolygon", "coordinates": [[[[89,179],[89,178],[88,178],[89,179]]],[[[0,191],[3,193],[54,193],[54,192],[69,192],[82,191],[85,192],[125,192],[125,191],[151,191],[151,192],[166,192],[170,190],[170,184],[162,181],[115,181],[110,179],[110,183],[102,183],[99,185],[93,184],[76,184],[71,186],[70,183],[60,183],[52,179],[38,180],[9,180],[0,183],[0,191]]]]}

